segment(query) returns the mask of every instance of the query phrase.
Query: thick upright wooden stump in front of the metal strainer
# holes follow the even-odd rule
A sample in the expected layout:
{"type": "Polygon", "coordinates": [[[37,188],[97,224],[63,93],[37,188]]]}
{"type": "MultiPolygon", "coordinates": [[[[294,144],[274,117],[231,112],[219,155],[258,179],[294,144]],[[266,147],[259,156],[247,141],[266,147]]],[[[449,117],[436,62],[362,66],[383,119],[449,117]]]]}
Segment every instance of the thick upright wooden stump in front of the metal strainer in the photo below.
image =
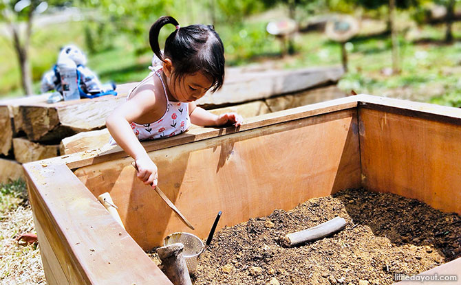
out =
{"type": "Polygon", "coordinates": [[[186,260],[182,255],[182,249],[184,249],[184,245],[177,242],[165,247],[159,247],[157,253],[160,260],[162,260],[162,271],[173,284],[192,285],[186,260]]]}

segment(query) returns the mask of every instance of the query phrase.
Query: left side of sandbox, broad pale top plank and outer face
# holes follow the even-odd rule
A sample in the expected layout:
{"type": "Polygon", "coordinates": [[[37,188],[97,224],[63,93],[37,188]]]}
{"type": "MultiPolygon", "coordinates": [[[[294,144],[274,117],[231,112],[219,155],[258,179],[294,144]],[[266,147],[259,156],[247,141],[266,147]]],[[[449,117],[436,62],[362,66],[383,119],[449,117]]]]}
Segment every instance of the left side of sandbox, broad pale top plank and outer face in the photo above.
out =
{"type": "Polygon", "coordinates": [[[171,285],[65,164],[24,168],[48,284],[171,285]]]}

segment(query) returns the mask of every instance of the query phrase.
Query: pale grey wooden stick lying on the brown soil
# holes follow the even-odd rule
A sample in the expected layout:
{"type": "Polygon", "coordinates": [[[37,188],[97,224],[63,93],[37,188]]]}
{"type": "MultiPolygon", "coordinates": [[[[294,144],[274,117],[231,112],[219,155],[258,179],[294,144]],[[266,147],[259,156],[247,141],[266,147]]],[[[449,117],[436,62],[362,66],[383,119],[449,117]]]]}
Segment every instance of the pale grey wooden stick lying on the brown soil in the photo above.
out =
{"type": "Polygon", "coordinates": [[[315,227],[311,227],[303,231],[297,231],[296,233],[288,233],[288,235],[283,237],[281,241],[286,247],[294,247],[297,244],[319,240],[321,238],[325,238],[325,236],[330,236],[330,234],[343,229],[345,225],[346,221],[344,218],[336,217],[315,227]]]}

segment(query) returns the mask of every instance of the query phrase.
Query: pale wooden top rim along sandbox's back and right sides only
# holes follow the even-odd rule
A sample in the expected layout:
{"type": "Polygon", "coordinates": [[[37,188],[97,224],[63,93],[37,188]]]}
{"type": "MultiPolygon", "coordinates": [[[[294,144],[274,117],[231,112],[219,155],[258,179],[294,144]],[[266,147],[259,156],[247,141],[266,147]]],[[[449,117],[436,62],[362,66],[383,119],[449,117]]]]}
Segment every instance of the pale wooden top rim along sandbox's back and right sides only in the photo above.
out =
{"type": "MultiPolygon", "coordinates": [[[[162,148],[169,148],[171,146],[188,144],[193,141],[210,139],[212,137],[228,135],[230,133],[237,133],[239,131],[251,130],[254,128],[261,128],[271,124],[289,122],[303,117],[311,117],[319,114],[352,109],[356,108],[357,106],[366,109],[396,113],[409,117],[420,117],[422,119],[430,119],[437,122],[447,122],[449,124],[461,125],[461,109],[439,106],[435,104],[411,102],[407,100],[360,94],[346,98],[339,98],[328,102],[310,104],[294,109],[259,115],[257,117],[246,119],[244,124],[238,129],[233,127],[194,128],[193,130],[188,131],[182,135],[177,135],[169,139],[146,141],[142,144],[147,152],[151,152],[154,150],[160,150],[162,148]]],[[[102,161],[117,159],[121,157],[128,157],[122,148],[119,146],[108,146],[107,148],[98,148],[95,150],[78,152],[72,155],[63,155],[61,157],[54,157],[52,159],[45,159],[43,161],[35,161],[33,163],[64,163],[68,168],[73,170],[83,166],[89,166],[92,164],[100,163],[102,161]]]]}

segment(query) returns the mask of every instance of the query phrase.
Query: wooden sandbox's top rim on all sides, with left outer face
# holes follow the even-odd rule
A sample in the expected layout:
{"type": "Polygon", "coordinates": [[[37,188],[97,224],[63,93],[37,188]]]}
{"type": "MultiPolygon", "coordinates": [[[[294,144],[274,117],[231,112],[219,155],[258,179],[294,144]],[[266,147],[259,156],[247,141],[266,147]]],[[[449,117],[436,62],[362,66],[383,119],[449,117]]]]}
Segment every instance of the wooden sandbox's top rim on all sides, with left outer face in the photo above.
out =
{"type": "MultiPolygon", "coordinates": [[[[358,106],[461,125],[461,110],[458,109],[356,95],[261,115],[248,119],[238,130],[232,127],[199,128],[143,145],[151,152],[358,106]]],[[[28,179],[34,219],[40,225],[45,225],[37,227],[37,233],[42,256],[46,253],[43,266],[49,284],[171,284],[127,231],[111,218],[96,197],[72,173],[72,169],[122,157],[127,155],[116,147],[35,161],[23,166],[28,179]],[[37,212],[35,209],[45,210],[37,212]],[[57,232],[53,232],[53,229],[57,232]],[[133,264],[133,260],[136,260],[136,264],[133,264]]],[[[458,258],[421,274],[460,273],[460,268],[461,259],[458,258]]],[[[459,278],[457,284],[461,282],[459,278]]]]}

